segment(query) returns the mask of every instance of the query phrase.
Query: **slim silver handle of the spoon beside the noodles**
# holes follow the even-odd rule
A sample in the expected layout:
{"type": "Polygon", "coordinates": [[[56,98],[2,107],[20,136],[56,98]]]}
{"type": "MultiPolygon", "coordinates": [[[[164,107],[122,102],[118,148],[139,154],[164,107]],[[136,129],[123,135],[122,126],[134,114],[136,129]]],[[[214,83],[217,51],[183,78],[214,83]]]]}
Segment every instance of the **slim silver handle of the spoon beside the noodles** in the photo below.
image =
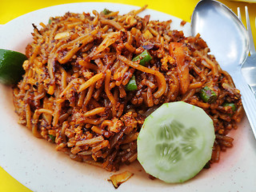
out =
{"type": "Polygon", "coordinates": [[[240,69],[238,69],[232,76],[235,77],[233,78],[235,86],[241,91],[242,105],[246,111],[246,116],[250,122],[251,129],[254,132],[254,137],[256,138],[256,97],[247,85],[240,69]]]}

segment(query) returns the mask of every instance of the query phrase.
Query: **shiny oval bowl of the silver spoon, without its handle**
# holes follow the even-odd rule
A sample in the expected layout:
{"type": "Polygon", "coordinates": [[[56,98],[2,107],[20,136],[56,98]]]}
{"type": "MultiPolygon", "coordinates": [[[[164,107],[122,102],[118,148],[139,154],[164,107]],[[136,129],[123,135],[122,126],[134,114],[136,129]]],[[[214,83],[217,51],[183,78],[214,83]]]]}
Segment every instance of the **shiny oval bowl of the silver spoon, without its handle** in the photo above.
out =
{"type": "Polygon", "coordinates": [[[191,18],[191,33],[201,34],[223,70],[234,70],[249,53],[249,37],[238,17],[216,1],[198,2],[191,18]]]}

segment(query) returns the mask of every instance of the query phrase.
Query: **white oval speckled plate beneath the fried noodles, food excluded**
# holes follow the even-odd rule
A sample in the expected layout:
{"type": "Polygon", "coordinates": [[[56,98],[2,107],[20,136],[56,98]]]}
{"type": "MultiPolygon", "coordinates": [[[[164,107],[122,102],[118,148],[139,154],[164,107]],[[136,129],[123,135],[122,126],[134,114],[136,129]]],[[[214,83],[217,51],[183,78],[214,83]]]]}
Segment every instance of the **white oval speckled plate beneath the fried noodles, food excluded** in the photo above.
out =
{"type": "MultiPolygon", "coordinates": [[[[82,13],[92,10],[120,10],[126,14],[135,6],[114,3],[74,3],[52,6],[16,18],[0,29],[0,48],[25,51],[31,41],[34,23],[47,23],[51,16],[65,14],[67,11],[82,13]]],[[[150,14],[151,19],[161,21],[172,19],[173,29],[184,30],[190,34],[190,24],[180,26],[182,21],[155,10],[146,10],[141,15],[150,14]]],[[[23,185],[34,191],[114,191],[107,179],[112,173],[85,163],[75,162],[66,154],[57,152],[54,145],[43,139],[34,138],[25,126],[18,125],[14,113],[10,87],[0,85],[0,165],[23,185]]],[[[195,178],[182,184],[166,184],[158,179],[151,180],[135,162],[122,167],[134,176],[119,186],[117,191],[255,191],[256,189],[256,142],[246,118],[234,134],[234,147],[222,154],[221,161],[210,170],[203,170],[195,178]]]]}

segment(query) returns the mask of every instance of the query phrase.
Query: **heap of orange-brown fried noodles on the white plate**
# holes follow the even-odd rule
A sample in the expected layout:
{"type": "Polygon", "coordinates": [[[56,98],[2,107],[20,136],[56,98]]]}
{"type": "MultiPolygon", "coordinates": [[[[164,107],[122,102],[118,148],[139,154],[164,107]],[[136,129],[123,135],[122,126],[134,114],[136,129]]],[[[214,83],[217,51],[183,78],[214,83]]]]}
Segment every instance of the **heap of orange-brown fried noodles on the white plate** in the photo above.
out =
{"type": "Polygon", "coordinates": [[[170,22],[118,12],[66,13],[34,26],[26,46],[26,74],[14,87],[19,122],[34,136],[56,144],[70,158],[118,170],[137,159],[138,132],[164,102],[201,107],[214,121],[216,141],[210,162],[232,146],[226,136],[240,121],[242,102],[230,75],[222,71],[206,42],[171,30],[170,22]],[[147,50],[142,66],[132,59],[147,50]],[[135,77],[137,90],[127,90],[135,77]],[[215,102],[200,97],[203,87],[215,102]],[[235,111],[224,103],[234,103],[235,111]]]}

